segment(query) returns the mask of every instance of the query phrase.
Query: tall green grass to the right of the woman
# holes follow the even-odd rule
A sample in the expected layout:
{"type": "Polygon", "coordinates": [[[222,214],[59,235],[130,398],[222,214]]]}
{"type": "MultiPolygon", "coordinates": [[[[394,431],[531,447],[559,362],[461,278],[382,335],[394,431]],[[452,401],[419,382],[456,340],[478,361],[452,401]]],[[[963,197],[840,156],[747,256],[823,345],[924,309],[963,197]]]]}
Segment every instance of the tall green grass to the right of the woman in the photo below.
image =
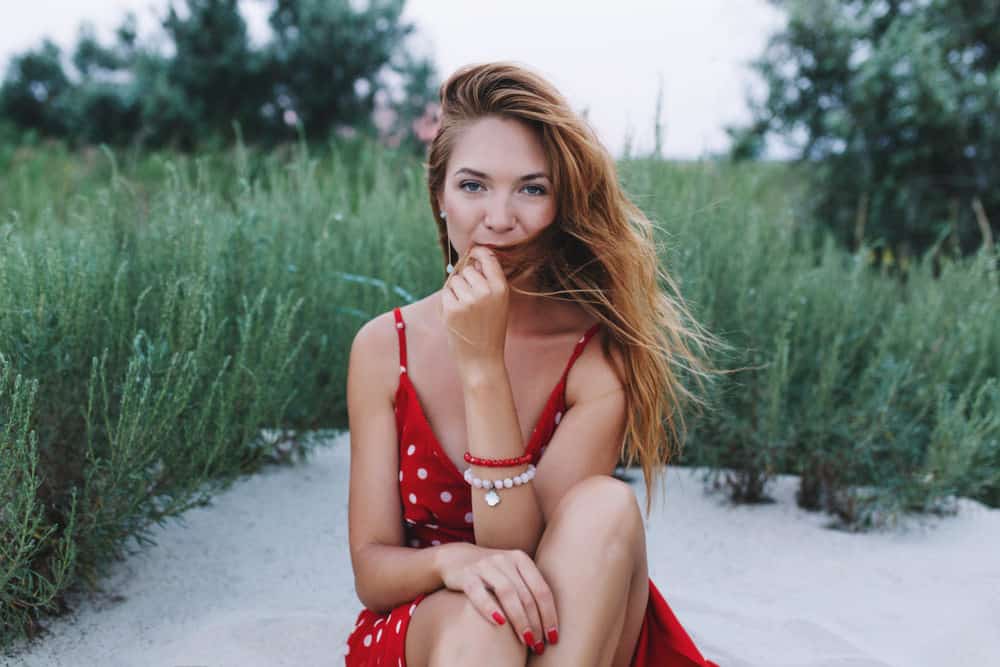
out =
{"type": "Polygon", "coordinates": [[[741,352],[685,460],[734,500],[801,475],[799,503],[862,529],[1000,504],[1000,285],[984,248],[905,280],[802,219],[794,170],[630,163],[695,316],[741,352]],[[785,189],[790,188],[790,189],[785,189]],[[777,196],[779,193],[784,194],[777,196]],[[816,243],[816,239],[820,242],[816,243]]]}

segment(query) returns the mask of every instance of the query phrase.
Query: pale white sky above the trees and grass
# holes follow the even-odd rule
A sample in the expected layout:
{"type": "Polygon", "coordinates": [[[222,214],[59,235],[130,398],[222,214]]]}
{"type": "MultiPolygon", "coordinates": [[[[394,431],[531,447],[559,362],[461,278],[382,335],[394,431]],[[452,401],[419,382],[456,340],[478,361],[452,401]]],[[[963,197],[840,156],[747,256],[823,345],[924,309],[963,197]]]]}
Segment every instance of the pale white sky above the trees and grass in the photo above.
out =
{"type": "MultiPolygon", "coordinates": [[[[165,0],[3,0],[0,63],[45,36],[62,46],[93,22],[110,36],[129,9],[154,28],[165,0]]],[[[241,0],[251,33],[266,36],[267,0],[241,0]]],[[[513,60],[552,81],[577,111],[588,110],[604,144],[620,156],[653,147],[653,115],[663,81],[664,154],[694,158],[723,150],[723,125],[749,117],[746,90],[762,86],[746,62],[781,26],[765,0],[504,0],[463,6],[456,0],[408,0],[414,48],[432,55],[446,77],[469,62],[513,60]]],[[[773,151],[777,156],[778,150],[773,151]]]]}

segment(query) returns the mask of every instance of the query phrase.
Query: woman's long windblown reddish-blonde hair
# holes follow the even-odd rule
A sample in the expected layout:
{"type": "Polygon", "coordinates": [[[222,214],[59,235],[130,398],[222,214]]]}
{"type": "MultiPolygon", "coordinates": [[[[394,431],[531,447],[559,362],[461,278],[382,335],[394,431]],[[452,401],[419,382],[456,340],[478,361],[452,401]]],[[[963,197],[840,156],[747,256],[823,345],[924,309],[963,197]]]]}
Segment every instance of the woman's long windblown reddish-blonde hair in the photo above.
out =
{"type": "MultiPolygon", "coordinates": [[[[679,455],[686,434],[682,405],[706,402],[682,383],[686,371],[704,389],[719,373],[692,351],[728,348],[688,312],[673,279],[658,261],[653,224],[625,195],[613,157],[562,95],[534,72],[511,62],[472,64],[440,88],[441,121],[430,145],[427,187],[442,254],[456,270],[459,257],[438,211],[445,170],[462,131],[484,116],[526,123],[541,141],[557,201],[555,221],[540,234],[498,249],[510,280],[532,271],[545,291],[512,291],[578,303],[610,332],[609,347],[622,354],[627,421],[620,458],[636,461],[646,481],[646,513],[658,474],[679,455]],[[671,296],[659,281],[673,291],[671,296]],[[664,438],[664,433],[666,438],[664,438]]],[[[724,372],[724,371],[723,371],[724,372]]]]}

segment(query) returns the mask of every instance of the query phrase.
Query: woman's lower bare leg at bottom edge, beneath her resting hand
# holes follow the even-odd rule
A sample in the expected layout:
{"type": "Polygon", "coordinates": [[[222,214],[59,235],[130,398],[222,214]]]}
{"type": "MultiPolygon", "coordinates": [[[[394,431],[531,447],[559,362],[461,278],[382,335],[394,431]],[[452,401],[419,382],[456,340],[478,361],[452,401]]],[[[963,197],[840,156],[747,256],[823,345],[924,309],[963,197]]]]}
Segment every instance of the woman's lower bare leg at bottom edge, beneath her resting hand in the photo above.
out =
{"type": "Polygon", "coordinates": [[[509,624],[497,626],[484,619],[464,593],[447,589],[431,593],[410,619],[406,632],[407,667],[427,667],[440,662],[442,655],[463,651],[470,655],[486,652],[501,660],[508,654],[527,656],[527,648],[514,636],[509,624]]]}

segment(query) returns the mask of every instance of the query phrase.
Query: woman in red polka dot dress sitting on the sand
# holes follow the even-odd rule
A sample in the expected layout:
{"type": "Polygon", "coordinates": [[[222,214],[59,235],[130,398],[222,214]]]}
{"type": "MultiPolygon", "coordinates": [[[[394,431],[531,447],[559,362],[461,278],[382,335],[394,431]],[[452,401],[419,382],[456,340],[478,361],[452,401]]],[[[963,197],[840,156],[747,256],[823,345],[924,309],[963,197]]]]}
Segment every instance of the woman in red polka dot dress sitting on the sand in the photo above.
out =
{"type": "Polygon", "coordinates": [[[649,579],[612,473],[624,455],[650,488],[681,442],[673,406],[698,402],[672,363],[701,379],[687,342],[716,341],[660,290],[650,222],[550,84],[489,63],[440,97],[427,169],[447,279],[351,348],[365,609],[346,663],[714,665],[649,579]]]}

